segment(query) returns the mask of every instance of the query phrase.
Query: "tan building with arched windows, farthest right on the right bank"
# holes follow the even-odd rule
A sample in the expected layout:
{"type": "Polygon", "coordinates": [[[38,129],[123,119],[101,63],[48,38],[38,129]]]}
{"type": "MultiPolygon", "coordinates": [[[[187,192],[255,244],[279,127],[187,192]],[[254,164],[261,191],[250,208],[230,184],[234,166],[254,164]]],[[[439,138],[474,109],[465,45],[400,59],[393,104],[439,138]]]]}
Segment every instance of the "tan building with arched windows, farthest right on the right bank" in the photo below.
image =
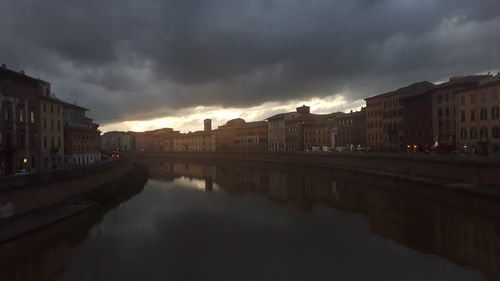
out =
{"type": "Polygon", "coordinates": [[[500,153],[500,75],[483,78],[455,93],[458,148],[469,153],[500,153]]]}

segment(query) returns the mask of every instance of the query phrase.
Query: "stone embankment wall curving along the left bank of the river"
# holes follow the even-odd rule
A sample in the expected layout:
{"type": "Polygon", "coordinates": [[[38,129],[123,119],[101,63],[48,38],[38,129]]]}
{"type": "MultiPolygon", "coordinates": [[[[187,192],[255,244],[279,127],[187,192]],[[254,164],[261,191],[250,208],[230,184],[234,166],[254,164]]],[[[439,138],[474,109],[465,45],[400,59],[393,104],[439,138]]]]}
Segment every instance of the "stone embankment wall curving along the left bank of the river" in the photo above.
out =
{"type": "Polygon", "coordinates": [[[0,178],[0,219],[45,208],[117,180],[132,167],[121,159],[47,173],[0,178]]]}

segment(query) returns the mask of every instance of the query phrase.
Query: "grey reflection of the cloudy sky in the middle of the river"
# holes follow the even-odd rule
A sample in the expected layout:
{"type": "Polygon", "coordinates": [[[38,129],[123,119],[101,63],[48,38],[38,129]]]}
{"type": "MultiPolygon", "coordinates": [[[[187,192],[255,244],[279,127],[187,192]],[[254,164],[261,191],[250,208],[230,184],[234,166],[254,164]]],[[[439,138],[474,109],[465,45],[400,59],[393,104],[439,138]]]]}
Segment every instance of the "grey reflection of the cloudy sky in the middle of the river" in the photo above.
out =
{"type": "Polygon", "coordinates": [[[482,280],[372,234],[358,214],[201,187],[149,181],[93,229],[61,280],[482,280]]]}

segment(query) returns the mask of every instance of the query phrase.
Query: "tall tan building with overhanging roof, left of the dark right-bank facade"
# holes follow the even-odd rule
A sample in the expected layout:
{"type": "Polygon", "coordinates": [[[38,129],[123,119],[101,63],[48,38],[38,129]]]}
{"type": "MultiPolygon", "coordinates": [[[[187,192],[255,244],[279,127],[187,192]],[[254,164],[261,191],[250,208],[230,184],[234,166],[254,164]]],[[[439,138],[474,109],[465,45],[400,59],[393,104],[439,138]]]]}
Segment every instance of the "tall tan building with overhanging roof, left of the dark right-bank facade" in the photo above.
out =
{"type": "Polygon", "coordinates": [[[401,152],[406,150],[402,99],[434,87],[422,81],[366,98],[366,143],[370,150],[401,152]]]}

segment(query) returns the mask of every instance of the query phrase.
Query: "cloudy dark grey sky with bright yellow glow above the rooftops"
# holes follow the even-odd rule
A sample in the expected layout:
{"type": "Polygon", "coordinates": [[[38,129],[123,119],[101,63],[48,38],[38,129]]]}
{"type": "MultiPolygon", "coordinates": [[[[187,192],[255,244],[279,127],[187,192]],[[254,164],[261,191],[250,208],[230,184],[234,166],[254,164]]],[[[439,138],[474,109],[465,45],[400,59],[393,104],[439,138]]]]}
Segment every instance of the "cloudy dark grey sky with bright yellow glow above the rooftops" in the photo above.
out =
{"type": "Polygon", "coordinates": [[[347,111],[500,64],[498,0],[2,0],[0,19],[0,63],[103,131],[347,111]]]}

